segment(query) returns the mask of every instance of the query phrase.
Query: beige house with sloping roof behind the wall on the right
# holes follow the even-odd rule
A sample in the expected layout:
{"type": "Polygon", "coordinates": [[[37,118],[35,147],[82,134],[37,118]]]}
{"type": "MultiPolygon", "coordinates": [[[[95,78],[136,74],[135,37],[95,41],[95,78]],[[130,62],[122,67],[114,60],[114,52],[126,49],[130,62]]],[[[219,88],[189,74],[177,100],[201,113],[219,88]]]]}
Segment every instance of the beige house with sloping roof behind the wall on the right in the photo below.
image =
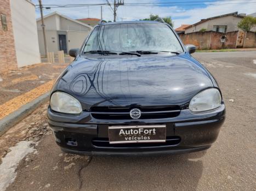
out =
{"type": "Polygon", "coordinates": [[[238,12],[234,12],[202,19],[201,21],[186,27],[185,34],[198,32],[201,29],[223,33],[238,31],[237,23],[240,22],[244,16],[246,16],[246,14],[238,14],[238,12]]]}

